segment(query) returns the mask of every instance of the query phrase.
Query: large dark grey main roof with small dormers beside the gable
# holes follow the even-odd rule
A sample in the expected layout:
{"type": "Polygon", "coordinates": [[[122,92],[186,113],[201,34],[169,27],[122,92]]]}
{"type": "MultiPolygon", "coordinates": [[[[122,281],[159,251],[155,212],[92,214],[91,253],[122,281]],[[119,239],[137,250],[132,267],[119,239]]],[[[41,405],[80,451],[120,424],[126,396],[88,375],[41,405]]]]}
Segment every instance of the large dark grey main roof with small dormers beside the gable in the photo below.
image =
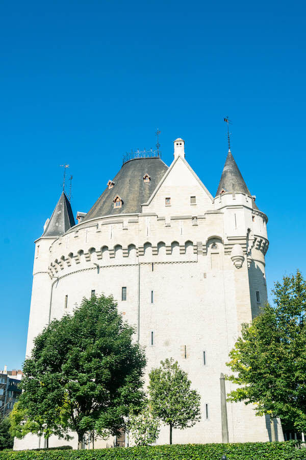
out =
{"type": "Polygon", "coordinates": [[[124,163],[113,179],[115,185],[103,192],[82,223],[102,216],[140,213],[141,204],[149,199],[167,169],[168,166],[159,157],[134,158],[124,163]],[[150,176],[149,182],[143,180],[145,173],[150,176]],[[123,201],[122,208],[114,209],[116,195],[123,201]]]}

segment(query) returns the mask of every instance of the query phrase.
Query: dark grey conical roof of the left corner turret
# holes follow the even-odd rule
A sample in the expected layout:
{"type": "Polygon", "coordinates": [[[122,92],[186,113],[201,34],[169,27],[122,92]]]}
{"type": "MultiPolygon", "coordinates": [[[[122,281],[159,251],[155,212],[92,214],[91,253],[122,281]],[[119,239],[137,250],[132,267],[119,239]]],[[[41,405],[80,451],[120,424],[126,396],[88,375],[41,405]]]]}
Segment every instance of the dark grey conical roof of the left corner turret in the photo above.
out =
{"type": "Polygon", "coordinates": [[[45,228],[43,237],[59,237],[75,225],[70,202],[62,192],[55,210],[45,228]]]}

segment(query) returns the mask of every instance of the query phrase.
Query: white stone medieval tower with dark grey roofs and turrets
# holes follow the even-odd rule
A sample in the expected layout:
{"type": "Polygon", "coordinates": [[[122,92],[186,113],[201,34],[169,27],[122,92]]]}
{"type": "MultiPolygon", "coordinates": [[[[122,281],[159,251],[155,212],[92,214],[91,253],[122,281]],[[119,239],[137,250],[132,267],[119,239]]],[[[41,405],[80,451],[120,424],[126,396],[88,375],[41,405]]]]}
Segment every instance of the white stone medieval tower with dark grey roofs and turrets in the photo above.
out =
{"type": "MultiPolygon", "coordinates": [[[[146,376],[172,357],[201,395],[201,421],[174,430],[173,442],[221,442],[220,374],[228,371],[241,324],[267,299],[267,217],[231,151],[215,197],[187,163],[179,138],[169,167],[158,155],[130,158],[78,216],[74,225],[63,193],[36,241],[27,354],[50,319],[72,313],[92,292],[113,294],[145,347],[146,376]]],[[[232,383],[225,385],[228,393],[232,383]]],[[[266,420],[250,406],[227,403],[227,422],[230,442],[269,440],[266,420]]],[[[281,429],[277,436],[283,439],[281,429]]],[[[158,443],[167,442],[165,427],[158,443]]],[[[27,436],[15,449],[38,445],[27,436]]]]}

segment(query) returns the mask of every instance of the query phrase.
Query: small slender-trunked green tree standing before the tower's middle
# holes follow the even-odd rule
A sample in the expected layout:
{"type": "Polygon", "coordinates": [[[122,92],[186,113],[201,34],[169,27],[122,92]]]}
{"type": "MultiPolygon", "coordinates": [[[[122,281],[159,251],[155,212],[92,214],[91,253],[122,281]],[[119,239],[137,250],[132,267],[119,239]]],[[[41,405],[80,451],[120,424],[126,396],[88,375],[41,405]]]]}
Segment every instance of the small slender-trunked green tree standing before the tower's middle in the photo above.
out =
{"type": "Polygon", "coordinates": [[[149,378],[152,413],[169,425],[172,444],[172,428],[184,429],[200,420],[200,395],[190,388],[187,373],[172,358],[161,361],[149,378]]]}

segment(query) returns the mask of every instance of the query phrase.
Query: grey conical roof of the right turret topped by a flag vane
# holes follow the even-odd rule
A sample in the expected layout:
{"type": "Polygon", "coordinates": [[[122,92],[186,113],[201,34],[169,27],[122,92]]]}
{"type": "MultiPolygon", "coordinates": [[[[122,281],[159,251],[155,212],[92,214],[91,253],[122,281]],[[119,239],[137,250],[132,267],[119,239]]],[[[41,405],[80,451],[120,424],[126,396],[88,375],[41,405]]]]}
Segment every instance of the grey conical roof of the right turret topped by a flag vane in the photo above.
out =
{"type": "Polygon", "coordinates": [[[222,192],[246,193],[251,196],[231,150],[228,150],[216,195],[222,192]]]}

